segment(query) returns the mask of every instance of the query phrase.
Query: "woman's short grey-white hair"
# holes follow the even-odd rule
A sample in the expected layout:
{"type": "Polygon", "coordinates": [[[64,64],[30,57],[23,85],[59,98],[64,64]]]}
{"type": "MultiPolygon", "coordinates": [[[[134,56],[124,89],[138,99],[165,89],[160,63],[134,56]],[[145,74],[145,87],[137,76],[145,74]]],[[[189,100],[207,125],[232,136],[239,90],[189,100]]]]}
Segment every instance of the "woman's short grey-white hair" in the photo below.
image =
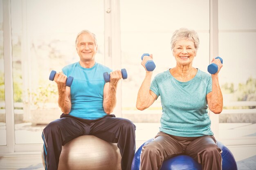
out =
{"type": "Polygon", "coordinates": [[[171,50],[172,51],[173,51],[173,48],[174,48],[176,42],[179,40],[191,40],[194,42],[195,51],[197,51],[199,48],[198,33],[193,29],[181,28],[181,29],[174,31],[173,36],[171,38],[171,50]]]}

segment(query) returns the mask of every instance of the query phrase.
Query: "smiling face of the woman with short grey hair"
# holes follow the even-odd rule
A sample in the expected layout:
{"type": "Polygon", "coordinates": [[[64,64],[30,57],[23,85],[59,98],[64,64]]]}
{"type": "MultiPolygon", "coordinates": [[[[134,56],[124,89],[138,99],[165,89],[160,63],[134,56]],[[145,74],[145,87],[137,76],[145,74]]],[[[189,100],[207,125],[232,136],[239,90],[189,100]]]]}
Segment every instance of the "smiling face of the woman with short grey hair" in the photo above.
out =
{"type": "Polygon", "coordinates": [[[178,40],[173,48],[173,56],[177,64],[182,66],[192,65],[193,59],[196,56],[194,42],[191,40],[178,40]]]}

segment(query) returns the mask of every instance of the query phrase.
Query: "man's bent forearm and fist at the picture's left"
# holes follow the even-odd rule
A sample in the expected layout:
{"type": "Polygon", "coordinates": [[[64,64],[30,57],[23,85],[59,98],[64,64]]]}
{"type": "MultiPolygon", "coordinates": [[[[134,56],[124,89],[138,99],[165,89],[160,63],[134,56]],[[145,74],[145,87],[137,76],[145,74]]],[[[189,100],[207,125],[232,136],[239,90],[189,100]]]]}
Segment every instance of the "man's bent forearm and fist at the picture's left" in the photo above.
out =
{"type": "Polygon", "coordinates": [[[67,76],[63,73],[56,73],[54,81],[58,86],[58,106],[64,114],[71,110],[70,87],[66,86],[67,76]]]}

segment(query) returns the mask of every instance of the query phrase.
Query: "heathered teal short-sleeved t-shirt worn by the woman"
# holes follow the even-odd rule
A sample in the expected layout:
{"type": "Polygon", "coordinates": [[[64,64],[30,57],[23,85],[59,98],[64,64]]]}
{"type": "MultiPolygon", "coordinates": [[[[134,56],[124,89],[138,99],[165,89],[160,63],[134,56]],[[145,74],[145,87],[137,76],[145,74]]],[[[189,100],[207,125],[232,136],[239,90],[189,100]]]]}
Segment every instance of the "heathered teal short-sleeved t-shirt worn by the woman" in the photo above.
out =
{"type": "Polygon", "coordinates": [[[161,96],[160,131],[180,137],[213,135],[206,95],[212,91],[212,79],[198,69],[188,82],[175,79],[169,70],[153,79],[150,90],[161,96]]]}

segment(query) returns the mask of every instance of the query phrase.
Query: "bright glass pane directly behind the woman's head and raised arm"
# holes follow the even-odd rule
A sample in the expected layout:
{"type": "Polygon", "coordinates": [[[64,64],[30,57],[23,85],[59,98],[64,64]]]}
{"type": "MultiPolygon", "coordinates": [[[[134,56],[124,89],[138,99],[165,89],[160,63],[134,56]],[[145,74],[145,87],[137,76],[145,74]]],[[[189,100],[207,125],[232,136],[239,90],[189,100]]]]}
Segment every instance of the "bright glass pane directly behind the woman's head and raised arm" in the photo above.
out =
{"type": "Polygon", "coordinates": [[[209,2],[189,1],[121,1],[121,57],[122,68],[128,72],[128,81],[122,84],[123,117],[135,122],[159,122],[161,100],[157,99],[147,110],[137,111],[136,99],[145,76],[141,66],[143,53],[153,54],[156,64],[153,77],[175,66],[171,51],[171,36],[176,29],[194,29],[200,36],[200,47],[194,66],[207,71],[209,64],[209,2]],[[145,6],[145,4],[147,4],[145,6]],[[180,15],[180,8],[190,15],[180,15]],[[127,90],[129,89],[129,90],[127,90]],[[147,115],[139,115],[147,113],[147,115]],[[136,115],[136,117],[135,117],[136,115]]]}

